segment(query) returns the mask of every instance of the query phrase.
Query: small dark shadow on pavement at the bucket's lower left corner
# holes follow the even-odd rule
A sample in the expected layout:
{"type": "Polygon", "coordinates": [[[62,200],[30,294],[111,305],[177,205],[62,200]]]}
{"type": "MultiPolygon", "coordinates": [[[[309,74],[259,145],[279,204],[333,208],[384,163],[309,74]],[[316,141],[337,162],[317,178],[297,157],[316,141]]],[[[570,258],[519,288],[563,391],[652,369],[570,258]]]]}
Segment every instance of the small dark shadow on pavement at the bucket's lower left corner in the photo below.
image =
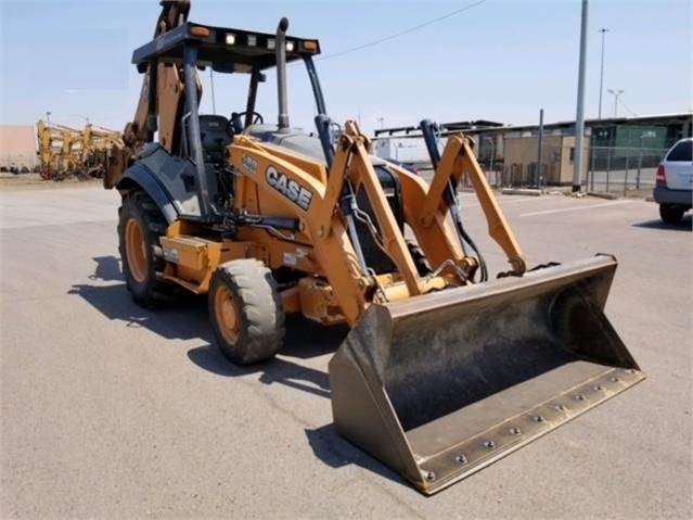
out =
{"type": "Polygon", "coordinates": [[[399,473],[393,471],[376,458],[371,457],[342,437],[333,423],[316,428],[315,430],[306,430],[306,436],[316,457],[331,468],[338,469],[345,466],[356,465],[371,473],[376,473],[390,480],[402,487],[409,487],[409,484],[399,473]]]}

